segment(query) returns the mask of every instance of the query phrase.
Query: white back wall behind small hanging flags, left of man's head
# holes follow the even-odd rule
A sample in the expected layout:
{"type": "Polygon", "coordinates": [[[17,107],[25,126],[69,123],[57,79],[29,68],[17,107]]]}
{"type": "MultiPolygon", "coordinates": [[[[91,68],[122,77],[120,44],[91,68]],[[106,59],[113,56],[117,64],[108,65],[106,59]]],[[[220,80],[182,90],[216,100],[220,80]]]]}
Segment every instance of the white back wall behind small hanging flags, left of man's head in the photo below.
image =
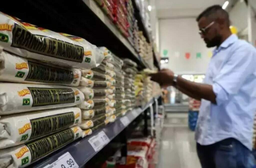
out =
{"type": "Polygon", "coordinates": [[[170,68],[176,73],[205,73],[210,57],[206,44],[198,34],[198,24],[195,18],[162,19],[159,20],[160,53],[168,50],[169,63],[162,64],[162,68],[170,68]],[[180,53],[175,57],[175,53],[180,53]],[[185,54],[190,53],[190,60],[185,54]],[[197,59],[196,53],[202,53],[197,59]]]}

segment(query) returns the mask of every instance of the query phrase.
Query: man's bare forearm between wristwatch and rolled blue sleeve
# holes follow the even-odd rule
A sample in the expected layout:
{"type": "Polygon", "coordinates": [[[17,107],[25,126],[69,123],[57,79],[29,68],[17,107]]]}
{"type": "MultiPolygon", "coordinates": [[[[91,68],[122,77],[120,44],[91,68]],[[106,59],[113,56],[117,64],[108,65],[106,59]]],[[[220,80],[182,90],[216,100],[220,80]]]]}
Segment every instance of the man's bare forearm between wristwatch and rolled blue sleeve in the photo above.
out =
{"type": "Polygon", "coordinates": [[[186,95],[193,97],[196,100],[204,99],[216,104],[216,96],[213,87],[210,84],[198,84],[178,76],[176,87],[181,92],[184,92],[186,95]]]}

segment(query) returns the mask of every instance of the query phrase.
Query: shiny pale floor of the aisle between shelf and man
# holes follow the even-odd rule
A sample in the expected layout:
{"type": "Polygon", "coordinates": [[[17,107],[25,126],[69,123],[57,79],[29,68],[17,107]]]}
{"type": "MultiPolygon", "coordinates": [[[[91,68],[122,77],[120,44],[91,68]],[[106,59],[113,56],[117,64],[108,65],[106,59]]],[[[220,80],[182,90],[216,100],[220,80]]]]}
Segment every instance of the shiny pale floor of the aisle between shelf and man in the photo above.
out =
{"type": "Polygon", "coordinates": [[[187,114],[170,114],[162,130],[158,168],[200,168],[194,131],[187,125],[187,114]]]}

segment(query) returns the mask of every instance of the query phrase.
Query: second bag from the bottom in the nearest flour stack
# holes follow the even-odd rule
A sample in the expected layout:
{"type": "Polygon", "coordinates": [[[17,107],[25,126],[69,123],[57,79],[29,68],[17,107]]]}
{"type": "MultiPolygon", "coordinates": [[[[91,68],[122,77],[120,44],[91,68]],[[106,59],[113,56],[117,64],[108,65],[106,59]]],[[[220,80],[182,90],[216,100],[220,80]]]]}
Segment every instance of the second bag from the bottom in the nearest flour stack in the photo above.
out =
{"type": "Polygon", "coordinates": [[[81,120],[78,107],[6,115],[0,119],[0,149],[42,138],[77,125],[81,120]]]}

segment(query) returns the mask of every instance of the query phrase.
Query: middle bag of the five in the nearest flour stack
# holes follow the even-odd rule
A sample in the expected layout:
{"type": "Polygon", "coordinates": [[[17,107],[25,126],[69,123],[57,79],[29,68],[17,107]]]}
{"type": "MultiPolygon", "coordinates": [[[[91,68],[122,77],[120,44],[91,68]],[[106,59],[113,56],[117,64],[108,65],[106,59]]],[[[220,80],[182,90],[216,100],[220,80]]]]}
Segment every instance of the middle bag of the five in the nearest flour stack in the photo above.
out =
{"type": "Polygon", "coordinates": [[[41,84],[0,84],[0,115],[81,104],[78,88],[41,84]]]}

